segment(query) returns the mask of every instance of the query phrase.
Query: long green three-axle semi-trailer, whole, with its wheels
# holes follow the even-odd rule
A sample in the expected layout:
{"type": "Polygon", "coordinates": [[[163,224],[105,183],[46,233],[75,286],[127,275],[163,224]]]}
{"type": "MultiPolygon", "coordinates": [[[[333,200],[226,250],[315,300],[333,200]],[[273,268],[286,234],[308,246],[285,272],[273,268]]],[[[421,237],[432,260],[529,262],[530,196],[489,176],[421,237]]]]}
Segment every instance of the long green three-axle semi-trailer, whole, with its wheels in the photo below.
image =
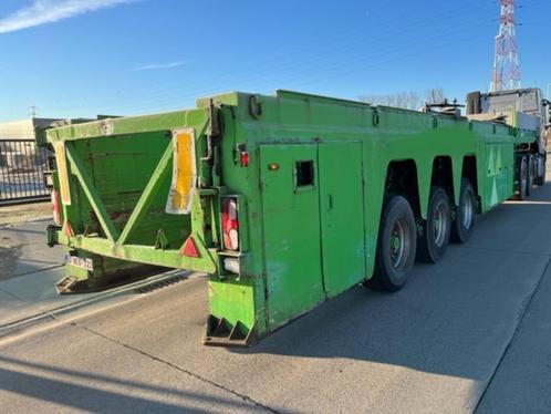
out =
{"type": "Polygon", "coordinates": [[[42,142],[64,289],[137,265],[207,272],[210,344],[253,343],[358,283],[398,290],[416,259],[466,242],[476,214],[542,183],[537,131],[288,91],[42,142]]]}

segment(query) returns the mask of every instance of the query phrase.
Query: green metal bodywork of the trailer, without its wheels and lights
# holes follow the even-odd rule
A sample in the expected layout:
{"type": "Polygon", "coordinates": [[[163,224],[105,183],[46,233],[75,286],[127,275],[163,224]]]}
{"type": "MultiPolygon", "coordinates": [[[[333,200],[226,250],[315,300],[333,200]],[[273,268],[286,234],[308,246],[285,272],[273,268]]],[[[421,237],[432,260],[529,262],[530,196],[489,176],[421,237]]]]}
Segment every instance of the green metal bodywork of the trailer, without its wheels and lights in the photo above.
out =
{"type": "Polygon", "coordinates": [[[73,234],[53,228],[50,240],[208,272],[207,341],[249,343],[371,278],[393,163],[415,165],[423,220],[435,159],[450,162],[457,205],[471,157],[485,213],[513,194],[514,148],[534,139],[488,122],[288,91],[229,93],[198,100],[190,111],[69,125],[48,131],[46,141],[69,148],[75,203],[63,206],[63,219],[73,234]],[[165,213],[170,137],[179,128],[194,128],[196,137],[190,215],[165,213]],[[227,196],[238,201],[239,251],[221,242],[227,196]],[[198,257],[181,255],[189,236],[198,257]]]}

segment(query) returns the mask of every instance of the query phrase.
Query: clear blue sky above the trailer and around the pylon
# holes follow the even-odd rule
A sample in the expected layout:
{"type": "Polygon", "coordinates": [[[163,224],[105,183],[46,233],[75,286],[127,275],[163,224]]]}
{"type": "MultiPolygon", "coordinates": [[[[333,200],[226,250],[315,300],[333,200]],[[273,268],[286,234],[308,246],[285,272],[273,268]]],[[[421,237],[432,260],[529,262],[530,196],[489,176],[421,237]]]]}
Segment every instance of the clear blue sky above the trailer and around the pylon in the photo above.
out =
{"type": "MultiPolygon", "coordinates": [[[[524,86],[551,83],[550,0],[517,18],[524,86]]],[[[2,0],[0,120],[141,114],[290,89],[339,97],[487,90],[491,0],[2,0]]]]}

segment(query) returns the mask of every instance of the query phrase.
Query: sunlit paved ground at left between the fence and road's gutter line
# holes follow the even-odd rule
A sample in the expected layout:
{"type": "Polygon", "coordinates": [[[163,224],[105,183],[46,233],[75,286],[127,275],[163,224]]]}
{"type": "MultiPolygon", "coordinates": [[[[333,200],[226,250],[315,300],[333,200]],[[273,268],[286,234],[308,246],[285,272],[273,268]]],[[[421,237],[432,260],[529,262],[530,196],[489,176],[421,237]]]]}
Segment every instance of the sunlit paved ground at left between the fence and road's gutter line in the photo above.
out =
{"type": "MultiPolygon", "coordinates": [[[[25,209],[31,205],[19,206],[25,209]]],[[[39,207],[32,205],[31,211],[39,207]]],[[[117,286],[105,291],[60,296],[55,283],[64,276],[65,252],[61,246],[45,246],[44,229],[50,219],[17,222],[13,207],[0,208],[0,217],[15,219],[0,226],[0,338],[12,335],[43,321],[55,320],[83,307],[112,303],[139,296],[142,289],[159,282],[174,282],[189,277],[185,271],[169,271],[117,286]],[[8,209],[8,213],[6,211],[8,209]]]]}

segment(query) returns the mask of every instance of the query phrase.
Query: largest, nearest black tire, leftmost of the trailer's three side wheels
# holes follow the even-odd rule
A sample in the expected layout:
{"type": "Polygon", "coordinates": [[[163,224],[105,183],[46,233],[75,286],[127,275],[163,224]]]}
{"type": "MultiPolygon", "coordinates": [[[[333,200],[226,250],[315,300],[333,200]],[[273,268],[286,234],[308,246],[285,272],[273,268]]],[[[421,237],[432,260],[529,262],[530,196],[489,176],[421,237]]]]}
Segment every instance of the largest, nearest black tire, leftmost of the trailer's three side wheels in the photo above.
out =
{"type": "MultiPolygon", "coordinates": [[[[392,196],[385,201],[377,240],[375,269],[373,277],[363,284],[375,290],[395,292],[404,287],[415,262],[417,248],[417,227],[415,217],[406,198],[392,196]],[[396,229],[404,232],[403,256],[393,263],[392,237],[396,238],[396,229]]],[[[402,244],[398,246],[402,250],[402,244]]],[[[395,259],[394,259],[395,260],[395,259]]]]}

